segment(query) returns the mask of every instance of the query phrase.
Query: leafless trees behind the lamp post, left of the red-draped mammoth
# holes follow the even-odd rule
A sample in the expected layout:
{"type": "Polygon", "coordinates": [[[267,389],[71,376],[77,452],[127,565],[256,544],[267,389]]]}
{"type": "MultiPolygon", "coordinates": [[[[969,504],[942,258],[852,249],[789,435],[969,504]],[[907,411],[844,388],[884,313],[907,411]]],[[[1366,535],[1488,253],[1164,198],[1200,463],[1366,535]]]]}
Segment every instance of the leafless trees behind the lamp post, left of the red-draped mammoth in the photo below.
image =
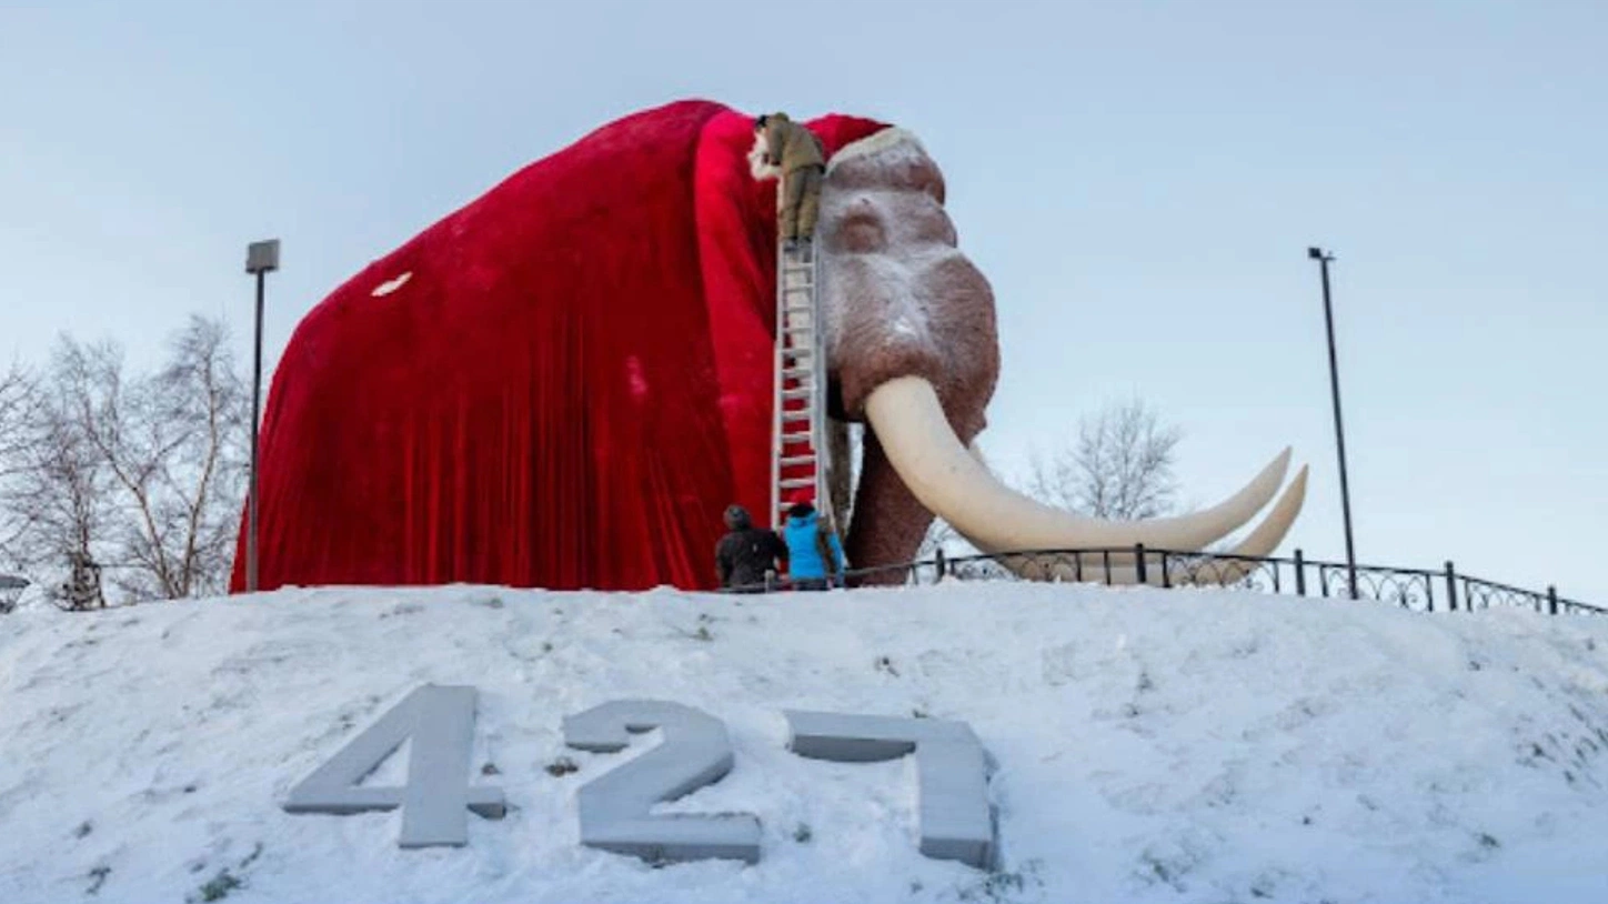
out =
{"type": "MultiPolygon", "coordinates": [[[[130,598],[227,587],[248,457],[248,392],[217,322],[193,317],[153,375],[113,343],[63,338],[5,487],[35,568],[106,568],[130,598]],[[88,565],[84,565],[88,563],[88,565]]],[[[72,584],[74,581],[69,581],[72,584]]]]}

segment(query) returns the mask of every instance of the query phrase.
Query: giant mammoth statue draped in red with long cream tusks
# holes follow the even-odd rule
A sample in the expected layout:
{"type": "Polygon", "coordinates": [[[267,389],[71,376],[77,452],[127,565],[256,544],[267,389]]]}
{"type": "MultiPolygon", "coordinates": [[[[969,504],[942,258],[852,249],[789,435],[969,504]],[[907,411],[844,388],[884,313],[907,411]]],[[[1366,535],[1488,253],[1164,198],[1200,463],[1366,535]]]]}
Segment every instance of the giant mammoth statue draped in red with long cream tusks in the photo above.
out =
{"type": "MultiPolygon", "coordinates": [[[[852,566],[912,560],[934,513],[989,552],[1198,550],[1278,495],[1235,547],[1272,552],[1306,489],[1302,468],[1278,494],[1288,450],[1225,502],[1153,521],[1000,484],[971,446],[999,373],[994,294],[937,164],[881,122],[807,125],[828,156],[830,404],[865,425],[852,566]]],[[[753,140],[751,116],[711,101],[627,116],[315,306],[264,413],[259,586],[711,587],[722,510],[770,507],[777,190],[753,140]]],[[[1114,557],[1113,577],[1132,566],[1114,557]]]]}

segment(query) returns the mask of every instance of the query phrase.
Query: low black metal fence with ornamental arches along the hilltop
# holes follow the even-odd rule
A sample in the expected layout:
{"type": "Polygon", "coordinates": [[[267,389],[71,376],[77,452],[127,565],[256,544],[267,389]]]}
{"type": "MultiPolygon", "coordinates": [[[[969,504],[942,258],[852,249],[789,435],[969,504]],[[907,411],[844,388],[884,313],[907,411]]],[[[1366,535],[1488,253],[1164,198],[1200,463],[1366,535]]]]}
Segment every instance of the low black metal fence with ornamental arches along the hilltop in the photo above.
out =
{"type": "MultiPolygon", "coordinates": [[[[1262,594],[1378,600],[1417,611],[1475,611],[1494,606],[1526,608],[1544,614],[1608,614],[1608,608],[1560,597],[1557,587],[1526,590],[1462,574],[1447,561],[1439,569],[1356,566],[1343,561],[1174,552],[1135,547],[1040,550],[947,557],[926,561],[851,569],[846,582],[936,584],[937,581],[1048,581],[1066,584],[1147,584],[1151,587],[1222,586],[1262,594]],[[1352,581],[1356,587],[1352,589],[1352,581]]],[[[733,592],[790,590],[785,579],[733,592]]]]}

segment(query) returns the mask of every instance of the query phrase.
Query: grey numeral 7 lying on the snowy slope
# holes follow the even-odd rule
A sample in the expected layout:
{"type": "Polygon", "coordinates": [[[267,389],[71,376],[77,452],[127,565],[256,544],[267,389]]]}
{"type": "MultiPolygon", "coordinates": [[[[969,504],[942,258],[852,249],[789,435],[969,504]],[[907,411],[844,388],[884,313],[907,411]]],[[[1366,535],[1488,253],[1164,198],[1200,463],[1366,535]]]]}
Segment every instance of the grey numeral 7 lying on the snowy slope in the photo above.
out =
{"type": "Polygon", "coordinates": [[[814,759],[875,762],[915,751],[921,795],[921,853],[989,869],[989,812],[982,743],[965,722],[785,711],[788,750],[814,759]]]}

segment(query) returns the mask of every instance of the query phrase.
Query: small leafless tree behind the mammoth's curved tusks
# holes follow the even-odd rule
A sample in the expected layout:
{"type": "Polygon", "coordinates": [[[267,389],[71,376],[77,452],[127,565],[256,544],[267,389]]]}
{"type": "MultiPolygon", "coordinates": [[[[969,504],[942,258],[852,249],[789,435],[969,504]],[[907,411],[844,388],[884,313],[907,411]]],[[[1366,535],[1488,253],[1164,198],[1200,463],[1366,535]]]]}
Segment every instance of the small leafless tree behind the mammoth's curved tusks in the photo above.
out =
{"type": "Polygon", "coordinates": [[[1134,521],[1172,512],[1174,452],[1182,439],[1142,399],[1110,404],[1077,426],[1077,444],[1032,455],[1026,492],[1095,518],[1134,521]]]}

